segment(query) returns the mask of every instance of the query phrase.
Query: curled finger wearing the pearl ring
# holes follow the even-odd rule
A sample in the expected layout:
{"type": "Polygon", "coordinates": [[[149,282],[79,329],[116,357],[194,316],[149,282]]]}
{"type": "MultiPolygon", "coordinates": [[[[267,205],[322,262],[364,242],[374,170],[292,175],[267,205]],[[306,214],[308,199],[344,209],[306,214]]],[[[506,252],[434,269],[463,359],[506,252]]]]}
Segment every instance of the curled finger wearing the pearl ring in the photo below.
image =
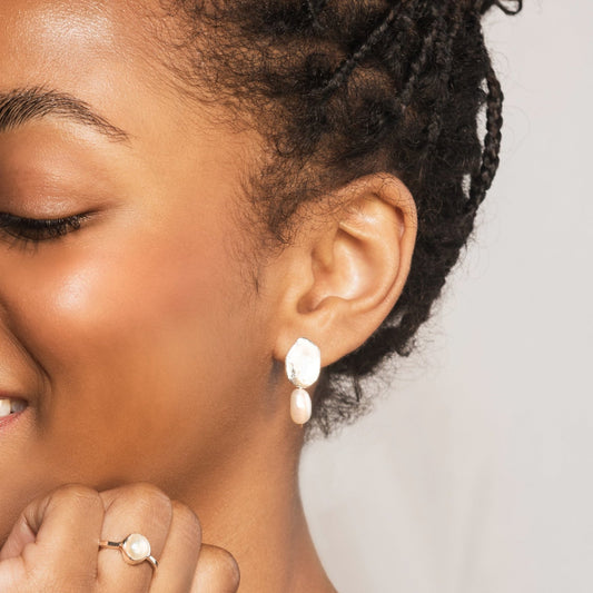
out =
{"type": "MultiPolygon", "coordinates": [[[[160,560],[172,518],[169,497],[144,483],[105,491],[100,496],[106,508],[101,540],[121,542],[139,533],[149,541],[151,555],[160,560]]],[[[128,564],[120,550],[101,548],[98,556],[98,582],[105,591],[149,590],[154,569],[148,562],[128,564]]]]}

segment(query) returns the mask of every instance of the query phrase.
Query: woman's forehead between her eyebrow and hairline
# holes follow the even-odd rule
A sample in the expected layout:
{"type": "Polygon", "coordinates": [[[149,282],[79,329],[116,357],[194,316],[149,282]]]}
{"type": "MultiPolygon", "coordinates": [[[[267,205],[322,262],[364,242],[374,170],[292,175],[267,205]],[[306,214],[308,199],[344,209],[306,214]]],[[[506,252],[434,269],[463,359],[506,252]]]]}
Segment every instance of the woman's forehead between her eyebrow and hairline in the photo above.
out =
{"type": "Polygon", "coordinates": [[[129,0],[0,2],[0,92],[57,89],[132,135],[146,132],[169,88],[155,53],[155,10],[129,0]]]}

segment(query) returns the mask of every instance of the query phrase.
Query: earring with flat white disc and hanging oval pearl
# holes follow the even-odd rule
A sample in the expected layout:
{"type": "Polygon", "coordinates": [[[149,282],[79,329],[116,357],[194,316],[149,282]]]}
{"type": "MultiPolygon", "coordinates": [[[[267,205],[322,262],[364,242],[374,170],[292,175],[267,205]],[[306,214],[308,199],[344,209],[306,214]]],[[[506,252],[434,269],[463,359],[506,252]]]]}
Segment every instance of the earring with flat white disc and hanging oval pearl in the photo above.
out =
{"type": "Polygon", "coordinates": [[[286,355],[286,376],[296,386],[290,394],[290,417],[295,424],[305,424],[310,418],[310,396],[305,387],[313,385],[322,370],[322,353],[307,338],[298,338],[286,355]]]}

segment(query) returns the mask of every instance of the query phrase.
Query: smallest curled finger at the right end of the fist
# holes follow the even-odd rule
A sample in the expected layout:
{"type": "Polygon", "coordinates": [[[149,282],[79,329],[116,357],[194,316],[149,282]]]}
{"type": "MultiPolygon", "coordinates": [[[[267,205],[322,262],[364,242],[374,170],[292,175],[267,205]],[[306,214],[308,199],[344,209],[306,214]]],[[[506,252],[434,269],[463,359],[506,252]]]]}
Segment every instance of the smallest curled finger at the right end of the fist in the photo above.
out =
{"type": "Polygon", "coordinates": [[[235,593],[239,581],[239,565],[230,552],[201,544],[191,593],[235,593]]]}

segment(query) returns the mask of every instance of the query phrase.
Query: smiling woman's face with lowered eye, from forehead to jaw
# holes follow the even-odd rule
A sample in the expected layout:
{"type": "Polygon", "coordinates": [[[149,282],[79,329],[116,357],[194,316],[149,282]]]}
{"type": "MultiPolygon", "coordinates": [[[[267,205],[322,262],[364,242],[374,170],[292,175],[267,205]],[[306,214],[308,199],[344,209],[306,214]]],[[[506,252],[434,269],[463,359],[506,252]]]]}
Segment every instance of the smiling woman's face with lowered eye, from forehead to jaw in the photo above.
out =
{"type": "Polygon", "coordinates": [[[250,145],[177,95],[135,4],[0,3],[0,213],[90,213],[1,233],[0,393],[28,407],[0,421],[0,537],[65,482],[181,496],[270,413],[247,397],[269,372],[235,216],[250,145]]]}

